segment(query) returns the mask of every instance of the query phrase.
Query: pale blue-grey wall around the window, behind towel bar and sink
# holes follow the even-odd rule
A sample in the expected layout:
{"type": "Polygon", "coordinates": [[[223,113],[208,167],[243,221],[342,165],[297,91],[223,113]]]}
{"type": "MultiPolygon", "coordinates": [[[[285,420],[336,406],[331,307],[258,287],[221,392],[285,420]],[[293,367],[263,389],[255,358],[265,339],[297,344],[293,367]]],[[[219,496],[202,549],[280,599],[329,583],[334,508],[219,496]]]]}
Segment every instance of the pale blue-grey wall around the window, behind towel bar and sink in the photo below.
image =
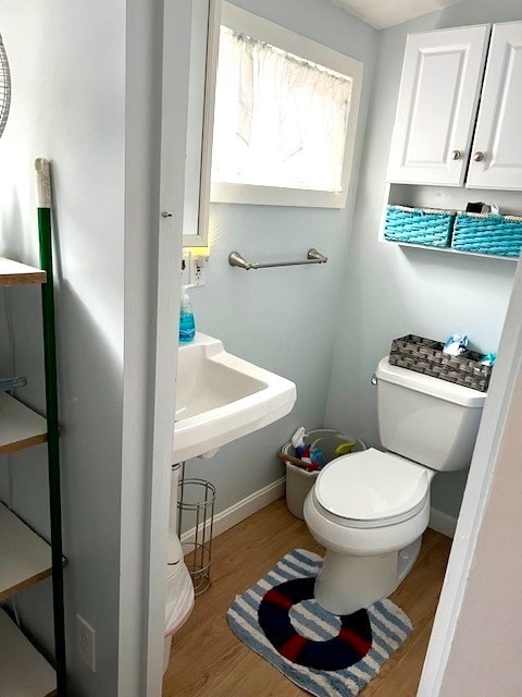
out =
{"type": "Polygon", "coordinates": [[[362,61],[364,77],[355,173],[345,210],[212,206],[208,282],[191,291],[197,326],[222,339],[232,353],[294,380],[298,389],[288,417],[231,443],[211,461],[189,463],[190,474],[215,482],[220,511],[284,475],[275,453],[297,426],[323,425],[377,50],[374,29],[324,0],[238,0],[236,4],[362,61]],[[234,249],[250,260],[271,261],[306,258],[310,247],[325,254],[328,264],[246,272],[227,262],[234,249]]]}

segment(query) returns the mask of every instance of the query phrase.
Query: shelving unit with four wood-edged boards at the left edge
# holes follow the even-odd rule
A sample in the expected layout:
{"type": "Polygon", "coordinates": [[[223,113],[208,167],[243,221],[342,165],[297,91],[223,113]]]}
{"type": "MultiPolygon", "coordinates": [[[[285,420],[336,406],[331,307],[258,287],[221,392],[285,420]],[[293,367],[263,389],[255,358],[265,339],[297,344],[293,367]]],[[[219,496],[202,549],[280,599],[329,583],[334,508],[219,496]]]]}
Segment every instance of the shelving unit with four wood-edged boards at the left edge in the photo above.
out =
{"type": "Polygon", "coordinates": [[[17,399],[0,392],[0,455],[47,442],[51,542],[47,543],[14,511],[0,504],[0,601],[52,576],[55,665],[51,667],[11,617],[0,611],[0,693],[24,697],[66,697],[65,562],[62,555],[50,208],[38,208],[38,222],[41,269],[0,257],[0,286],[41,285],[47,418],[17,399]]]}

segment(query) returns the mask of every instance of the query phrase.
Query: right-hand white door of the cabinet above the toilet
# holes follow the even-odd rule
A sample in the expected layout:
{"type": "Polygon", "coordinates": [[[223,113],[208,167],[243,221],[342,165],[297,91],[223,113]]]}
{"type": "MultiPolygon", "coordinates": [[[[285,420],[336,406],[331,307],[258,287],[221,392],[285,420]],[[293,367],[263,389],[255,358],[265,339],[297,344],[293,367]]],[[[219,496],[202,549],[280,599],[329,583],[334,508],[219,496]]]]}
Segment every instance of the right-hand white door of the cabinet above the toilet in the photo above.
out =
{"type": "Polygon", "coordinates": [[[522,189],[522,22],[493,27],[467,186],[522,189]]]}

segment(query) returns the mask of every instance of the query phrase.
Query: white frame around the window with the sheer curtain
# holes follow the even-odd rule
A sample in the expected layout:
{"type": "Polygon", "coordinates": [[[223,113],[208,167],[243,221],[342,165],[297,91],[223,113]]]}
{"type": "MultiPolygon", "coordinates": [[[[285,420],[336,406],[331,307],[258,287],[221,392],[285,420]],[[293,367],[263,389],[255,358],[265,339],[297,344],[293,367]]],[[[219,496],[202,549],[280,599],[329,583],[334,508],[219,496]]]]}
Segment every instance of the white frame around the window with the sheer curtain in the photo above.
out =
{"type": "Polygon", "coordinates": [[[221,24],[241,32],[256,39],[266,41],[276,48],[299,58],[318,63],[330,70],[347,75],[352,82],[350,112],[346,132],[345,157],[343,160],[343,188],[327,192],[309,188],[284,188],[259,184],[236,184],[211,182],[212,203],[254,204],[263,206],[302,206],[311,208],[345,208],[350,185],[357,122],[361,99],[363,65],[360,61],[339,53],[312,39],[290,32],[278,24],[269,22],[257,14],[247,12],[229,2],[222,3],[221,24]]]}

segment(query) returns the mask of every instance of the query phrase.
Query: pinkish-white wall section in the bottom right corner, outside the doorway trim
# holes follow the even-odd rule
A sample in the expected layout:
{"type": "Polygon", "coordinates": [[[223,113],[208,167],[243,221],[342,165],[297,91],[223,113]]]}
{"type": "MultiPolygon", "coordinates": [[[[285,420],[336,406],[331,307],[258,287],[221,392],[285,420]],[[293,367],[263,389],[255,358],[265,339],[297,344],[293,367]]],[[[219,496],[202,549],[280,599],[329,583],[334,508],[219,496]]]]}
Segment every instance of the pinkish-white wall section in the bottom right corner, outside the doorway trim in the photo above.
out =
{"type": "Polygon", "coordinates": [[[519,376],[492,477],[440,697],[520,695],[521,423],[522,370],[519,360],[519,376]]]}

